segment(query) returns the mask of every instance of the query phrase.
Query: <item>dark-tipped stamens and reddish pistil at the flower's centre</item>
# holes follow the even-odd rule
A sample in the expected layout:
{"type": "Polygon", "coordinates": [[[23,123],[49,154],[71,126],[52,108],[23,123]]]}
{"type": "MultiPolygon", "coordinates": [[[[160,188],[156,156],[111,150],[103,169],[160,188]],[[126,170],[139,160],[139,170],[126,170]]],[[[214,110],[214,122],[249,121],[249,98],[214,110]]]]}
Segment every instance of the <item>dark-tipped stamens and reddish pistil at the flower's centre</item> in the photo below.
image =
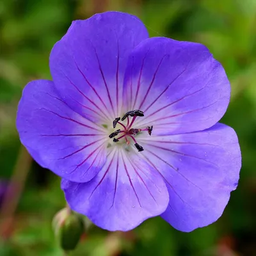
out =
{"type": "Polygon", "coordinates": [[[144,116],[143,111],[132,110],[132,111],[128,111],[127,113],[125,113],[125,115],[122,117],[122,119],[120,117],[115,118],[115,120],[113,121],[113,128],[115,128],[116,125],[119,124],[124,129],[123,130],[118,129],[118,130],[112,132],[111,134],[109,134],[109,138],[113,138],[113,142],[115,142],[115,143],[118,142],[120,139],[125,139],[127,145],[130,144],[130,141],[127,140],[127,137],[131,138],[134,141],[134,146],[138,149],[138,152],[141,152],[144,149],[143,149],[143,147],[141,147],[141,145],[138,144],[138,142],[136,141],[134,136],[136,136],[136,134],[138,134],[141,131],[147,131],[148,134],[151,136],[151,133],[153,130],[153,125],[148,126],[146,129],[132,128],[132,124],[134,124],[134,121],[136,120],[137,116],[144,116]],[[129,116],[132,116],[131,124],[130,124],[129,116]],[[120,120],[124,121],[126,118],[127,118],[127,124],[124,125],[120,122],[120,120]],[[121,136],[119,136],[118,138],[114,138],[115,136],[117,136],[120,133],[122,133],[121,136]]]}

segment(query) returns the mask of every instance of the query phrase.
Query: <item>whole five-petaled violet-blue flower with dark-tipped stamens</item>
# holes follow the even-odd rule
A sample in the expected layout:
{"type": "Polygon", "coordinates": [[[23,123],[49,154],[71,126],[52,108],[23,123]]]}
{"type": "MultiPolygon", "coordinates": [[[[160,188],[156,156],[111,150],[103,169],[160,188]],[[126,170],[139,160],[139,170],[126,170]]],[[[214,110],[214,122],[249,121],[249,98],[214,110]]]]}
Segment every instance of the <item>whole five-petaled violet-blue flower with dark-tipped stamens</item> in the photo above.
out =
{"type": "Polygon", "coordinates": [[[138,18],[106,12],[72,23],[50,69],[24,88],[17,129],[71,209],[124,231],[161,216],[189,232],[221,216],[241,152],[218,123],[230,84],[204,45],[148,38],[138,18]]]}

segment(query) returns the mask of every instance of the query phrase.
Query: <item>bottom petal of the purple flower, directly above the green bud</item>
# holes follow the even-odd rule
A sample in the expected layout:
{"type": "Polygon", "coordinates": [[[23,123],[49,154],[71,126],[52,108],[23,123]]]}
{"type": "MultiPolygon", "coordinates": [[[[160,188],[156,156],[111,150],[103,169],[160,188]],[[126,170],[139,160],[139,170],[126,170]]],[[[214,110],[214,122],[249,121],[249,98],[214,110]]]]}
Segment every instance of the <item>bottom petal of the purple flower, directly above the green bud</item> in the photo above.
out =
{"type": "Polygon", "coordinates": [[[71,209],[111,231],[127,231],[165,211],[169,198],[162,177],[138,157],[113,150],[90,182],[63,180],[61,188],[71,209]]]}

